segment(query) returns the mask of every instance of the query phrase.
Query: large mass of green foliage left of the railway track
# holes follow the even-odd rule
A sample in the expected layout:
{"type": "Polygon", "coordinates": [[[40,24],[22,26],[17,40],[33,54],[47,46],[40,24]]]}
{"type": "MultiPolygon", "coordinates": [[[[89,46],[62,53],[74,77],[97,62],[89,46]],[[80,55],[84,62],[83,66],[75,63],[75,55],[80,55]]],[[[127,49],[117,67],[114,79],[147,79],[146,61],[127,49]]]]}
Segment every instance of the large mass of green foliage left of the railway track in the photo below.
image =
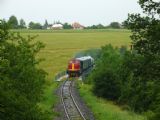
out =
{"type": "Polygon", "coordinates": [[[45,120],[41,100],[46,73],[38,69],[37,53],[44,45],[34,37],[10,33],[0,20],[0,119],[45,120]]]}

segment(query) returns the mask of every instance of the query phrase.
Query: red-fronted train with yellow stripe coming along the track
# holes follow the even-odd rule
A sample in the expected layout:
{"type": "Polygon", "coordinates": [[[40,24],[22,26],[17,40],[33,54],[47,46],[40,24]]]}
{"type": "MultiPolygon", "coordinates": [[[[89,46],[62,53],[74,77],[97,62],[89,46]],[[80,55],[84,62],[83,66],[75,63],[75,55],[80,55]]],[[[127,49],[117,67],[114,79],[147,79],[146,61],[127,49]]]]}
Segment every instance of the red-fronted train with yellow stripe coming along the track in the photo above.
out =
{"type": "Polygon", "coordinates": [[[83,73],[90,71],[94,66],[91,56],[83,56],[69,60],[67,74],[71,77],[80,77],[83,73]]]}

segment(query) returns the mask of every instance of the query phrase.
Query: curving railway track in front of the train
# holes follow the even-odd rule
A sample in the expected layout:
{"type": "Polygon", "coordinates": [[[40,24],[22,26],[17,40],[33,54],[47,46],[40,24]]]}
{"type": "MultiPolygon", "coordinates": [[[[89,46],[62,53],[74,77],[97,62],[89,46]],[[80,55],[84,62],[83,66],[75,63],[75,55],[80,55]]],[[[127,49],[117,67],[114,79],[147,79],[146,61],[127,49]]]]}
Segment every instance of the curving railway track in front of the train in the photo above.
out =
{"type": "Polygon", "coordinates": [[[73,80],[66,80],[61,87],[61,101],[68,120],[86,120],[72,94],[73,80]]]}

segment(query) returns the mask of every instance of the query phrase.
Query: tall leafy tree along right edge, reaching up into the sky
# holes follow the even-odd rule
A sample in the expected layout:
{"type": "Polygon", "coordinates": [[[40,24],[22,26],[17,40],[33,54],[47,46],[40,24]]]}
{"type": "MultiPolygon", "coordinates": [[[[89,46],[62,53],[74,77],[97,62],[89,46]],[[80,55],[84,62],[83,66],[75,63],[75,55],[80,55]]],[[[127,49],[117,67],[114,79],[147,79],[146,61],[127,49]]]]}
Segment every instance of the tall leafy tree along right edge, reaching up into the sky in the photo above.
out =
{"type": "Polygon", "coordinates": [[[160,118],[160,2],[139,0],[146,16],[130,14],[125,25],[131,29],[133,50],[136,51],[133,82],[138,81],[139,95],[136,95],[136,107],[143,111],[152,110],[155,114],[150,118],[160,118]],[[149,89],[148,89],[149,88],[149,89]],[[142,100],[143,96],[143,100],[142,100]],[[147,107],[146,107],[147,106],[147,107]]]}

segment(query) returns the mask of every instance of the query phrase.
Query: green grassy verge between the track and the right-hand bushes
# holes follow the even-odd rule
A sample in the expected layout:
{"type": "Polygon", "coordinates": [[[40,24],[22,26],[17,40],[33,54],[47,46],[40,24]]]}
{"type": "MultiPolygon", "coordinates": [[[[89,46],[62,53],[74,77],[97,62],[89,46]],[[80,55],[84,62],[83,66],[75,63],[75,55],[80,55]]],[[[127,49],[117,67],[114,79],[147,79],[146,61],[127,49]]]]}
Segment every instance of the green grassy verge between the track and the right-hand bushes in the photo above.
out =
{"type": "Polygon", "coordinates": [[[91,85],[79,83],[81,97],[93,111],[96,120],[146,120],[144,116],[122,110],[111,101],[97,98],[91,92],[91,85]]]}

